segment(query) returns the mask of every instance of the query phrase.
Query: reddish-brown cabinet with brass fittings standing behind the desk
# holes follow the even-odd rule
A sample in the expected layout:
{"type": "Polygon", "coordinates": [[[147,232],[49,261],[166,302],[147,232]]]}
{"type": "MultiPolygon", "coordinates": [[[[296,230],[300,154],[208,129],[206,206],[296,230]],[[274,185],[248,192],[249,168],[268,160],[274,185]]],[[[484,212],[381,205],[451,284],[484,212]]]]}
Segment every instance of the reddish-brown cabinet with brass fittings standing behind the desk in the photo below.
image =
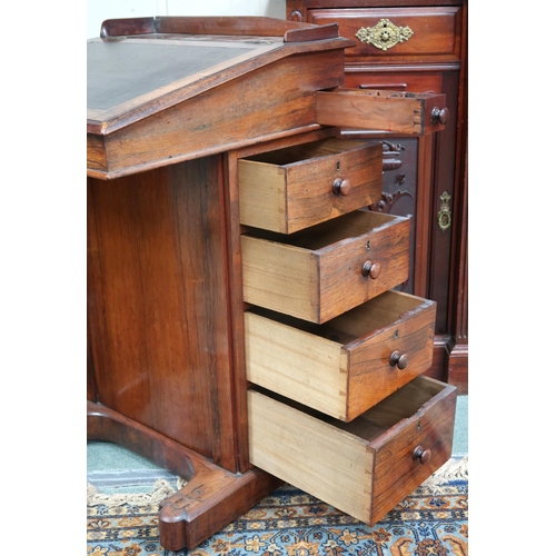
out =
{"type": "Polygon", "coordinates": [[[386,141],[396,160],[373,210],[411,215],[411,269],[404,291],[437,302],[435,357],[427,373],[467,393],[467,2],[287,0],[292,21],[336,22],[346,87],[446,95],[449,119],[435,137],[345,129],[386,141]]]}

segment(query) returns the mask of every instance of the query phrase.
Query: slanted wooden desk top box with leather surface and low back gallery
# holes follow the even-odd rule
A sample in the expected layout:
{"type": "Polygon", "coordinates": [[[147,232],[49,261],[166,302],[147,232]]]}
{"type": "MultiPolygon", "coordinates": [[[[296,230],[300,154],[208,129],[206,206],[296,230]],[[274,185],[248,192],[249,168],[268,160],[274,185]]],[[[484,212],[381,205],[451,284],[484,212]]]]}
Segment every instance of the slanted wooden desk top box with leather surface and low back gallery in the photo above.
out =
{"type": "Polygon", "coordinates": [[[234,18],[106,21],[88,41],[88,175],[117,178],[316,128],[315,91],[344,85],[353,41],[337,26],[245,19],[241,32],[234,18]]]}

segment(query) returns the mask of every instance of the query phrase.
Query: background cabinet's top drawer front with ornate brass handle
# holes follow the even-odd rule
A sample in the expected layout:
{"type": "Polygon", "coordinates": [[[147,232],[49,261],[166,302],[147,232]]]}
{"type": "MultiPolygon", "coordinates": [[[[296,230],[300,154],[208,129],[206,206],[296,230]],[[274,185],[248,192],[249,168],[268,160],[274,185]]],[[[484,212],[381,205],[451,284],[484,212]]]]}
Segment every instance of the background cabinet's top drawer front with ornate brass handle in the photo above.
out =
{"type": "Polygon", "coordinates": [[[460,7],[310,10],[309,22],[339,24],[339,34],[357,44],[346,49],[347,62],[369,57],[385,63],[460,58],[460,7]]]}

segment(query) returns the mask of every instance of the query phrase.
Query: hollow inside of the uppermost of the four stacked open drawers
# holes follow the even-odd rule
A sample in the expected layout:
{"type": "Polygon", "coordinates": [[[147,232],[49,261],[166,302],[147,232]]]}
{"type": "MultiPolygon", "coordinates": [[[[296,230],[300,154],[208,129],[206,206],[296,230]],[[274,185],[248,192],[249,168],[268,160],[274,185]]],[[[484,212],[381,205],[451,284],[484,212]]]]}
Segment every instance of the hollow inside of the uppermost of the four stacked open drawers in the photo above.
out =
{"type": "MultiPolygon", "coordinates": [[[[341,155],[356,148],[363,148],[373,145],[368,140],[346,140],[346,139],[322,139],[321,141],[296,145],[268,152],[261,152],[245,160],[255,162],[265,162],[276,166],[288,166],[297,162],[306,162],[308,159],[341,155]]],[[[345,168],[346,170],[348,168],[345,168]]]]}

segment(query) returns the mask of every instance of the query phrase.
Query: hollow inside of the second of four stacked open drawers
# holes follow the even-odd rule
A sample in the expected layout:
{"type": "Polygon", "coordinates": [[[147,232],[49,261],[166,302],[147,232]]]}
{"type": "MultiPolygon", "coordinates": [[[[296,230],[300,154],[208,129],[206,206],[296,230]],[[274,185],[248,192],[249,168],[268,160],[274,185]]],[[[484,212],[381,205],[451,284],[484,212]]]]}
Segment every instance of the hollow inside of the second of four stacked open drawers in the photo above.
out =
{"type": "Polygon", "coordinates": [[[383,226],[394,225],[405,219],[405,217],[385,215],[383,212],[356,210],[289,235],[267,231],[260,228],[249,228],[248,235],[266,239],[267,241],[317,250],[346,239],[377,231],[383,226]]]}

